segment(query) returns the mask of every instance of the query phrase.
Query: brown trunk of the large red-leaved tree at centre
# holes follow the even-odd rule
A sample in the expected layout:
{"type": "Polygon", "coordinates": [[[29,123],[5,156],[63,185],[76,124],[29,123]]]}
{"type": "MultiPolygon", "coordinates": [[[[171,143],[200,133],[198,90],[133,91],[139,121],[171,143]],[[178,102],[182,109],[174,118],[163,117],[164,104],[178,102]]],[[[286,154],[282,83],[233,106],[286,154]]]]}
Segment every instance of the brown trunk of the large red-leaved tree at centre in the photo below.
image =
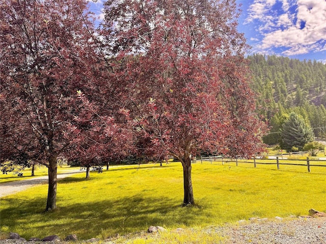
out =
{"type": "Polygon", "coordinates": [[[194,193],[193,193],[193,184],[192,184],[192,162],[188,157],[182,163],[183,167],[183,189],[184,189],[184,198],[183,206],[194,204],[194,193]]]}

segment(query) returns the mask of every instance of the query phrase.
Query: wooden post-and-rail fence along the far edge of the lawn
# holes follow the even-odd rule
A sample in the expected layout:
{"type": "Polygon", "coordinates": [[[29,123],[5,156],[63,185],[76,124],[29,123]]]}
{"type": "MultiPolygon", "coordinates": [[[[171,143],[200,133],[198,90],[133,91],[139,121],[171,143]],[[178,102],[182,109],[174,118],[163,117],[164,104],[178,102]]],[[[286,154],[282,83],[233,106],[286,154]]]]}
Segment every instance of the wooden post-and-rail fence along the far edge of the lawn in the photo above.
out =
{"type": "Polygon", "coordinates": [[[277,169],[280,169],[280,165],[296,165],[296,166],[306,166],[308,169],[308,172],[310,172],[311,167],[326,167],[326,161],[325,160],[311,160],[309,157],[307,157],[306,160],[286,160],[286,159],[279,159],[279,157],[276,157],[276,159],[242,159],[242,158],[227,158],[224,156],[211,156],[211,157],[194,157],[193,163],[203,163],[203,162],[209,162],[210,164],[213,163],[221,163],[222,165],[230,162],[235,163],[236,166],[238,166],[239,163],[248,163],[248,164],[254,164],[254,167],[256,168],[258,164],[264,164],[264,165],[276,165],[277,169]],[[263,161],[263,162],[261,162],[263,161]],[[284,162],[287,161],[287,162],[284,162]],[[293,161],[293,163],[290,163],[289,161],[293,161]],[[301,161],[303,163],[296,163],[297,161],[301,161]],[[319,162],[320,164],[316,163],[319,162]],[[325,164],[321,164],[325,163],[325,164]]]}

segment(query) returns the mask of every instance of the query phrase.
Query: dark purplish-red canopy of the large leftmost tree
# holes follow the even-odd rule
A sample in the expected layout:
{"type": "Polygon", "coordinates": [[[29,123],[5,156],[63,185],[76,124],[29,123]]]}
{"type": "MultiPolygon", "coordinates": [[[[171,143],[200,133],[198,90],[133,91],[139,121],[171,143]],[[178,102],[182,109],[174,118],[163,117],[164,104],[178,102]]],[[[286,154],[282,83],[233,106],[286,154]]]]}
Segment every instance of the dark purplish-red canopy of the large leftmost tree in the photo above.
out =
{"type": "MultiPolygon", "coordinates": [[[[45,165],[69,145],[70,96],[84,86],[86,1],[1,1],[1,160],[26,153],[45,165]]],[[[87,23],[92,26],[91,23],[87,23]]]]}

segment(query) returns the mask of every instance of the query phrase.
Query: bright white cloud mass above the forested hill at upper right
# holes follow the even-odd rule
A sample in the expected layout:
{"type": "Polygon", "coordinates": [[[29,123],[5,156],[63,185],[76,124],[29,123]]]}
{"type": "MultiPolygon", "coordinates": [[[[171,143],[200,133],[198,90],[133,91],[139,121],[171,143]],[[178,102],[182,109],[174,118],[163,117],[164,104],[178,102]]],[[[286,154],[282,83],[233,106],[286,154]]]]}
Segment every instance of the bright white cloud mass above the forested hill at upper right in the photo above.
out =
{"type": "Polygon", "coordinates": [[[282,3],[284,11],[279,16],[271,11],[276,4],[275,0],[255,0],[249,8],[247,23],[258,22],[257,32],[262,35],[257,48],[270,50],[282,47],[283,50],[286,49],[282,52],[284,55],[324,50],[326,1],[278,0],[278,3],[282,3]]]}

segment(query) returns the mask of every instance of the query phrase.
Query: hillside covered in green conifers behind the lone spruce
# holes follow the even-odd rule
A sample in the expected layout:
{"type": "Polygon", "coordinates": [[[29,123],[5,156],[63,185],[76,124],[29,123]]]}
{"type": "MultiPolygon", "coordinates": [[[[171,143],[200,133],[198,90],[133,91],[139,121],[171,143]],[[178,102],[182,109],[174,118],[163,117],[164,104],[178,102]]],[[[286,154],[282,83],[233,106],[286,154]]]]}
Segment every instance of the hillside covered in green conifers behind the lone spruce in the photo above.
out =
{"type": "Polygon", "coordinates": [[[257,113],[268,121],[268,144],[280,142],[280,129],[291,112],[302,115],[325,137],[326,65],[282,56],[254,54],[248,57],[253,73],[252,89],[257,94],[257,113]]]}

